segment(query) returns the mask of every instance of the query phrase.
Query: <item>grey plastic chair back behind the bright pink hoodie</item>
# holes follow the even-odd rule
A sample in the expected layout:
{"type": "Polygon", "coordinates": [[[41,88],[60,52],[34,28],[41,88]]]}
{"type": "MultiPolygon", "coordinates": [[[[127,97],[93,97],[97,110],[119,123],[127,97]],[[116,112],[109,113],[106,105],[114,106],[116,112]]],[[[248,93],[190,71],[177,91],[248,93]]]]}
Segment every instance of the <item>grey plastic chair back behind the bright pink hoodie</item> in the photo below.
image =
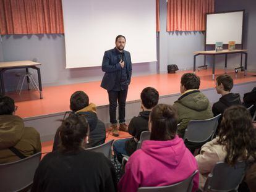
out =
{"type": "Polygon", "coordinates": [[[137,192],[190,192],[193,188],[193,178],[197,172],[198,170],[195,170],[189,178],[186,178],[186,180],[182,182],[168,186],[143,186],[140,187],[137,192]]]}

